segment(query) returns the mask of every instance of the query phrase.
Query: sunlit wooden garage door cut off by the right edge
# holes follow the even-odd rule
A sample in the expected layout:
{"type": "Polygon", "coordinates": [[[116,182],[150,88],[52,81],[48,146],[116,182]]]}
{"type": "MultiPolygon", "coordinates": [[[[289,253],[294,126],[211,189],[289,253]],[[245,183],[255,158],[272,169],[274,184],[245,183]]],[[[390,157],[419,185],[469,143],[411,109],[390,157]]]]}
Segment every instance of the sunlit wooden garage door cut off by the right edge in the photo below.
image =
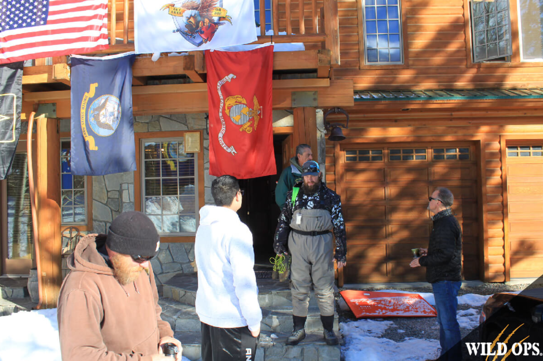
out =
{"type": "Polygon", "coordinates": [[[543,274],[542,146],[543,140],[539,144],[507,144],[507,224],[512,278],[543,274]]]}

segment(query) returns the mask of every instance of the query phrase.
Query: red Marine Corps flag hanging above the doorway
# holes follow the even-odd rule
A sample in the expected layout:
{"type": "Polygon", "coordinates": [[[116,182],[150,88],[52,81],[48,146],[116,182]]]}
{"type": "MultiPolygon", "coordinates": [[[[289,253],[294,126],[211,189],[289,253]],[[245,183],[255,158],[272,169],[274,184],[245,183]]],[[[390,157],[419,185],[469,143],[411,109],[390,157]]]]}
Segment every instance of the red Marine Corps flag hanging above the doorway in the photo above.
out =
{"type": "Polygon", "coordinates": [[[273,46],[206,50],[209,174],[238,179],[275,174],[271,73],[273,46]]]}

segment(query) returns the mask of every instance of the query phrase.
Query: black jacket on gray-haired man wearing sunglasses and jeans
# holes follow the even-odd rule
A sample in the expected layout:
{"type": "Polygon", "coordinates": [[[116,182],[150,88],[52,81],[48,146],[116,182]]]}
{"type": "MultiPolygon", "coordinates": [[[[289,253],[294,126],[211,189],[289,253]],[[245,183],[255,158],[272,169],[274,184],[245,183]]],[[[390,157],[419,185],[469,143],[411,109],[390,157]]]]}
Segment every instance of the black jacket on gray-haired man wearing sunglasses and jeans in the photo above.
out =
{"type": "Polygon", "coordinates": [[[433,219],[428,255],[419,258],[426,267],[426,280],[462,280],[462,230],[450,208],[435,214],[433,219]]]}

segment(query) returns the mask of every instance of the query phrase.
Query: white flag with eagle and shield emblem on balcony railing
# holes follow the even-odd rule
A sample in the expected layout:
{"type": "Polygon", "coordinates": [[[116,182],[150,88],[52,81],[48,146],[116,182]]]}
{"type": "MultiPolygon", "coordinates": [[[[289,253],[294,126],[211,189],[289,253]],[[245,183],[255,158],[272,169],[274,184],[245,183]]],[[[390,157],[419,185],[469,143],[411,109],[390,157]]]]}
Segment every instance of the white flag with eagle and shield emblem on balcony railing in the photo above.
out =
{"type": "Polygon", "coordinates": [[[134,0],[136,53],[188,52],[256,41],[253,0],[134,0]]]}

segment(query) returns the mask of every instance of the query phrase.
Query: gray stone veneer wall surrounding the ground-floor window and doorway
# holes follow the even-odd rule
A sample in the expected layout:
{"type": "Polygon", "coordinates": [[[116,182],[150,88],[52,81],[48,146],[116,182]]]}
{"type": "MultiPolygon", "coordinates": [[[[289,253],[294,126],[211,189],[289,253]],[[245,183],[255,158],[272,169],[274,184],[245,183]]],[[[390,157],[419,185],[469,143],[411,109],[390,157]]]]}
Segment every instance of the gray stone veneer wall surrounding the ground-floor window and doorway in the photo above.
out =
{"type": "MultiPolygon", "coordinates": [[[[138,116],[134,118],[135,132],[203,130],[205,204],[213,204],[209,174],[209,135],[206,132],[205,114],[175,114],[138,116]]],[[[274,111],[273,126],[292,126],[291,112],[274,111]]],[[[317,111],[318,147],[321,170],[324,174],[325,140],[323,112],[317,111]]],[[[70,131],[70,119],[62,119],[61,132],[70,131]]],[[[138,167],[140,165],[138,164],[138,167]]],[[[201,181],[201,180],[200,180],[201,181]]],[[[134,172],[115,173],[92,177],[93,233],[106,233],[111,221],[121,212],[134,210],[134,172]]],[[[200,207],[203,205],[200,205],[200,207]]],[[[194,243],[161,243],[158,256],[151,261],[157,284],[162,284],[178,273],[197,271],[194,262],[194,243]]]]}

